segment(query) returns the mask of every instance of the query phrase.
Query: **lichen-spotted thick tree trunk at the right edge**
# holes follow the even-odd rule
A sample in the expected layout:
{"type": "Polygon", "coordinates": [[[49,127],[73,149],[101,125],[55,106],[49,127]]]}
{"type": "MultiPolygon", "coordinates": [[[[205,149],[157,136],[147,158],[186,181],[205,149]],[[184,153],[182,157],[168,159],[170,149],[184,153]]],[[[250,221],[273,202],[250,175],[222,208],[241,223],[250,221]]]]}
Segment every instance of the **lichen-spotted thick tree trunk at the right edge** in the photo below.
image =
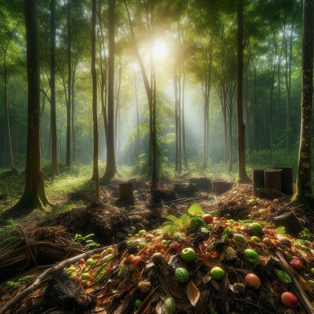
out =
{"type": "Polygon", "coordinates": [[[313,212],[314,199],[311,189],[311,120],[313,100],[313,54],[314,54],[314,6],[313,1],[303,1],[302,32],[302,95],[301,134],[295,192],[292,200],[308,206],[313,212]]]}

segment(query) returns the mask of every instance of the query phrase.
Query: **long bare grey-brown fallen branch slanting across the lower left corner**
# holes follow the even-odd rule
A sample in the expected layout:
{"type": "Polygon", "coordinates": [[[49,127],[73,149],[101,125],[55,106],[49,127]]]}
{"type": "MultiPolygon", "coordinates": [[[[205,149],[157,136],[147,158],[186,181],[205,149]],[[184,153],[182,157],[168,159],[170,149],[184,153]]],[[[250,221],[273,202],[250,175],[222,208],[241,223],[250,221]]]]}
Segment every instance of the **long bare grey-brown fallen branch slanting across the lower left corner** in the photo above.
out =
{"type": "Polygon", "coordinates": [[[71,264],[74,264],[78,262],[81,258],[90,257],[93,254],[97,254],[102,252],[106,247],[98,247],[97,249],[88,251],[86,253],[80,254],[78,256],[69,258],[67,260],[64,260],[63,262],[48,268],[46,271],[44,271],[41,275],[39,275],[35,281],[29,285],[26,289],[22,290],[19,295],[14,296],[11,300],[9,300],[1,309],[0,314],[5,314],[8,310],[12,309],[15,305],[17,305],[21,300],[23,300],[27,295],[29,295],[31,292],[37,289],[37,287],[40,285],[40,283],[46,279],[46,277],[53,275],[57,273],[58,271],[61,271],[63,268],[68,267],[71,264]]]}

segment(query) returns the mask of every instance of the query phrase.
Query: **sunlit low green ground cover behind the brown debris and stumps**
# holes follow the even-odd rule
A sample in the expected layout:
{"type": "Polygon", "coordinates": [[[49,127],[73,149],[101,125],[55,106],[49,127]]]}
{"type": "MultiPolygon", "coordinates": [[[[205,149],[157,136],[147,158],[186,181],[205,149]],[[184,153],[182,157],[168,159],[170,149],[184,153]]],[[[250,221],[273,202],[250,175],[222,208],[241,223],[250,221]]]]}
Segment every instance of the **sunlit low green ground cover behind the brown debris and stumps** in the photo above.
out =
{"type": "MultiPolygon", "coordinates": [[[[106,186],[106,182],[101,178],[105,172],[106,164],[99,162],[100,185],[106,186]]],[[[144,167],[118,166],[118,174],[114,180],[124,181],[130,178],[143,178],[148,180],[150,173],[144,167]]],[[[251,167],[247,167],[248,174],[251,173],[251,167]]],[[[66,212],[72,208],[84,208],[86,202],[81,199],[71,197],[73,193],[83,191],[93,191],[94,182],[91,181],[91,165],[72,165],[71,170],[65,167],[64,163],[59,165],[59,174],[54,181],[51,181],[49,173],[50,162],[43,161],[43,170],[45,173],[45,189],[48,199],[55,207],[48,206],[45,210],[35,210],[31,213],[11,212],[9,209],[20,198],[24,190],[25,177],[24,169],[18,168],[19,174],[11,175],[8,169],[0,168],[0,240],[10,233],[20,224],[24,227],[34,225],[43,219],[52,219],[56,215],[66,212]]],[[[188,177],[219,177],[225,180],[233,180],[236,172],[226,171],[225,164],[212,164],[206,170],[202,170],[196,163],[190,163],[187,169],[183,169],[179,174],[171,166],[163,164],[160,167],[159,178],[165,183],[177,181],[186,181],[188,177]]],[[[1,242],[1,241],[0,241],[1,242]]]]}

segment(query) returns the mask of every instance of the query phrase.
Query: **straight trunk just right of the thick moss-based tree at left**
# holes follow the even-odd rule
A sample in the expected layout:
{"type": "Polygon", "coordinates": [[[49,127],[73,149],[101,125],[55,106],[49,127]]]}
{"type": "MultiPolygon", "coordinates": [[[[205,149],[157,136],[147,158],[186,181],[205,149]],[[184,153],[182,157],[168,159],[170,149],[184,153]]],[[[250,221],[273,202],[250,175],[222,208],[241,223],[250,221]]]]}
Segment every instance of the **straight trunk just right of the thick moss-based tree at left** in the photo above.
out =
{"type": "Polygon", "coordinates": [[[50,1],[50,127],[51,127],[51,181],[55,179],[58,170],[57,153],[57,118],[56,118],[56,83],[55,83],[55,46],[56,46],[56,27],[55,27],[55,0],[50,1]]]}

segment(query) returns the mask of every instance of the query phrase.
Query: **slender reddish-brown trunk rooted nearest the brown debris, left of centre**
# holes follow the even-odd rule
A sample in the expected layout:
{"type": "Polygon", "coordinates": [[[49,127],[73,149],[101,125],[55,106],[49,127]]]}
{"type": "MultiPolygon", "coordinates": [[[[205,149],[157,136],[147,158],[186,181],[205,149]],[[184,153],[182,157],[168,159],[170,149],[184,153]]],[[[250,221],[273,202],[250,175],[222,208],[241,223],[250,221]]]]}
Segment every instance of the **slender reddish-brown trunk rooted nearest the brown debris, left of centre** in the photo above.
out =
{"type": "MultiPolygon", "coordinates": [[[[92,86],[93,86],[93,133],[94,133],[94,158],[93,158],[93,178],[95,180],[95,202],[99,203],[99,173],[98,173],[98,120],[97,120],[97,76],[96,76],[96,0],[92,0],[92,86]]],[[[74,80],[74,78],[73,78],[74,80]]]]}

